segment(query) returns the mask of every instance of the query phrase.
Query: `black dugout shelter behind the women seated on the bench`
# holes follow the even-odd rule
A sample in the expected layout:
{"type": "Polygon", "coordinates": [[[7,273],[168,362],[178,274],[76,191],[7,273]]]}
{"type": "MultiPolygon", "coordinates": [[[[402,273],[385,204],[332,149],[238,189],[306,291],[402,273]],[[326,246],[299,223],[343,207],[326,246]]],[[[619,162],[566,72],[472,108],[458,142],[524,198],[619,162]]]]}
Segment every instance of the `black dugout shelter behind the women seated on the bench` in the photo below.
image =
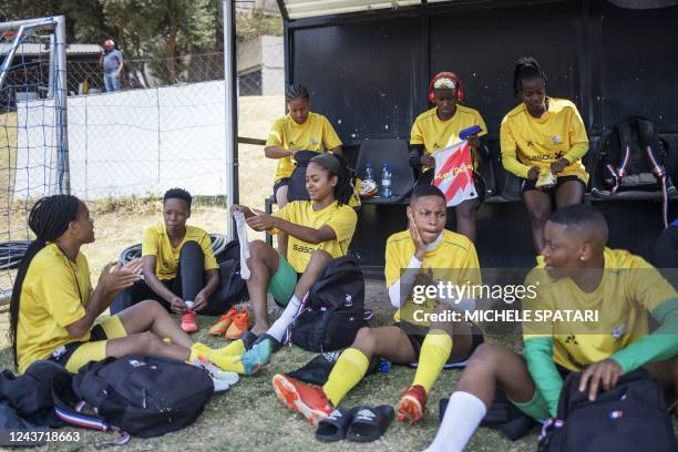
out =
{"type": "MultiPolygon", "coordinates": [[[[654,121],[678,155],[678,1],[278,3],[286,82],[310,89],[312,110],[328,116],[353,160],[366,140],[409,140],[414,119],[430,107],[432,74],[453,71],[463,79],[464,104],[483,115],[492,152],[492,193],[477,215],[476,247],[485,267],[534,263],[517,179],[504,172],[499,150],[500,122],[518,102],[512,90],[517,58],[535,56],[548,75],[548,95],[577,104],[592,142],[589,172],[600,134],[629,115],[654,121]]],[[[612,247],[645,255],[662,228],[658,194],[587,194],[586,201],[606,214],[612,247]]],[[[676,195],[670,212],[678,215],[676,195]]],[[[383,266],[386,238],[405,225],[402,204],[361,207],[352,250],[363,268],[383,266]]]]}

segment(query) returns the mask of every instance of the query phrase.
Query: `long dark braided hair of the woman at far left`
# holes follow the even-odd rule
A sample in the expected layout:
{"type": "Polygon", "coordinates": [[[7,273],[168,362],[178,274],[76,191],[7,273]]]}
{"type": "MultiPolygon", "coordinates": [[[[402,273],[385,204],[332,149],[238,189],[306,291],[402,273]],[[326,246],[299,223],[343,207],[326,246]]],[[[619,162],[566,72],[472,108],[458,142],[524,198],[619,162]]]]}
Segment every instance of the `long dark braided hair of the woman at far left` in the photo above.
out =
{"type": "Polygon", "coordinates": [[[17,327],[19,325],[19,306],[21,304],[21,288],[25,274],[33,257],[47,246],[48,243],[56,242],[69,228],[69,224],[78,217],[80,199],[71,195],[53,195],[38,199],[29,214],[29,227],[35,234],[35,239],[29,245],[12,289],[10,301],[10,328],[9,336],[14,353],[14,366],[17,360],[17,327]]]}

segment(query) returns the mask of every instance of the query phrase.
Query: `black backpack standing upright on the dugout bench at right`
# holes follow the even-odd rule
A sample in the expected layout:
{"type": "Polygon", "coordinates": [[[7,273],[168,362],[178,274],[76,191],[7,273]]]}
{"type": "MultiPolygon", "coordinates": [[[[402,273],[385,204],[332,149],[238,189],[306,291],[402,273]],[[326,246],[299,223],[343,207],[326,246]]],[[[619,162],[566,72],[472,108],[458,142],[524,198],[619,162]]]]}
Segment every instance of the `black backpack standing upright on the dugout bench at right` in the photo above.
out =
{"type": "Polygon", "coordinates": [[[641,116],[619,121],[598,143],[595,177],[607,189],[594,192],[661,192],[664,223],[668,227],[668,193],[675,191],[670,177],[669,146],[659,137],[655,124],[641,116]]]}

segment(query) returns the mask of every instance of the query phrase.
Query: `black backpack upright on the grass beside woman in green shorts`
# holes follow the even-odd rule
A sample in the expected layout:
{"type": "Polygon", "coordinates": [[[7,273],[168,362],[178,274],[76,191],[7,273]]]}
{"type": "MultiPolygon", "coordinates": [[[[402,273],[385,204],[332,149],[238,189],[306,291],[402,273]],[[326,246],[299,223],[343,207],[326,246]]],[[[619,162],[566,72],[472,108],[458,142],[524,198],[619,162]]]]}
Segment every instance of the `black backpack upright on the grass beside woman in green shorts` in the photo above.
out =
{"type": "Polygon", "coordinates": [[[351,256],[331,260],[295,319],[292,343],[309,351],[350,346],[364,326],[364,277],[351,256]]]}

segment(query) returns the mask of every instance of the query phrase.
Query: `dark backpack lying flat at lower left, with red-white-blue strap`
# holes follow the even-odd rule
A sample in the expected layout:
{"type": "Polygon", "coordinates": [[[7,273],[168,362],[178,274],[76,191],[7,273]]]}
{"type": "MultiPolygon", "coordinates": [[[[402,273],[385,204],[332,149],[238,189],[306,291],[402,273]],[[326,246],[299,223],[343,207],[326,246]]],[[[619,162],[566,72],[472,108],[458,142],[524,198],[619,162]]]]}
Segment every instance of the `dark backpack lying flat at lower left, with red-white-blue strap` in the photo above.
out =
{"type": "Polygon", "coordinates": [[[181,430],[195,421],[214,392],[212,378],[186,362],[130,355],[91,361],[72,379],[55,380],[56,413],[97,430],[114,425],[141,438],[181,430]],[[73,404],[74,401],[85,403],[73,404]],[[74,407],[78,413],[73,413],[74,407]],[[93,410],[90,415],[81,414],[93,410]],[[85,421],[83,421],[83,419],[85,421]]]}

